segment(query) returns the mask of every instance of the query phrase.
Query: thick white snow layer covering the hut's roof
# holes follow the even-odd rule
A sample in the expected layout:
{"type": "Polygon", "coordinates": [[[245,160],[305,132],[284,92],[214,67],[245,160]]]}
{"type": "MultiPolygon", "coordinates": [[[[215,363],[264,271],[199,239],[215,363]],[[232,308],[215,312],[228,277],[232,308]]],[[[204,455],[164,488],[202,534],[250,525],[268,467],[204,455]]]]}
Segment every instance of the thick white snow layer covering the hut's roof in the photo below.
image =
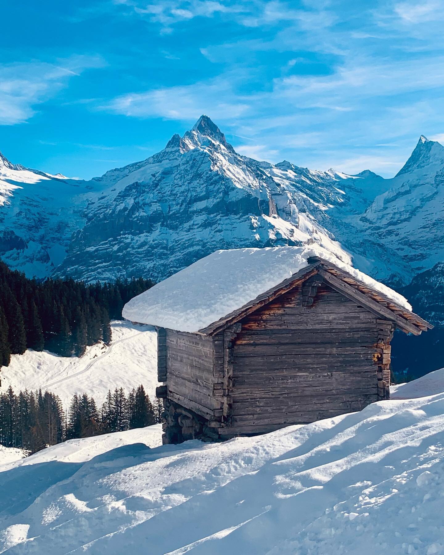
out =
{"type": "Polygon", "coordinates": [[[122,315],[132,322],[196,332],[254,300],[320,256],[411,310],[396,291],[319,245],[218,250],[131,299],[122,315]]]}

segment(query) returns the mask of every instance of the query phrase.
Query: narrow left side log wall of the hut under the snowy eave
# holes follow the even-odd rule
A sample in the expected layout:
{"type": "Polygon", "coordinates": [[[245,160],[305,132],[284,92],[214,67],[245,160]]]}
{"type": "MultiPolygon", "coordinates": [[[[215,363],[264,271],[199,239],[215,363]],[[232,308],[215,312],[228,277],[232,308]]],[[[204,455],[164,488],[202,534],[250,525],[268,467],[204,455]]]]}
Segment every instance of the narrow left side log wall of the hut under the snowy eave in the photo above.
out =
{"type": "Polygon", "coordinates": [[[214,342],[211,337],[166,330],[167,397],[210,418],[220,410],[214,397],[214,342]]]}

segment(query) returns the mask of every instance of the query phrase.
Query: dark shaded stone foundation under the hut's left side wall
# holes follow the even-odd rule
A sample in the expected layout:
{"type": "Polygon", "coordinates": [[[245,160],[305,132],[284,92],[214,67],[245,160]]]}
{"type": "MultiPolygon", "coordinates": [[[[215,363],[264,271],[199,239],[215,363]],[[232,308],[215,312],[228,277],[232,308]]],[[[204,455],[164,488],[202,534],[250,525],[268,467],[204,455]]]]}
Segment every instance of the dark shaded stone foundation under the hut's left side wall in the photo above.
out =
{"type": "Polygon", "coordinates": [[[169,399],[164,398],[163,403],[162,441],[164,445],[187,440],[220,441],[217,428],[209,426],[208,420],[169,399]]]}

